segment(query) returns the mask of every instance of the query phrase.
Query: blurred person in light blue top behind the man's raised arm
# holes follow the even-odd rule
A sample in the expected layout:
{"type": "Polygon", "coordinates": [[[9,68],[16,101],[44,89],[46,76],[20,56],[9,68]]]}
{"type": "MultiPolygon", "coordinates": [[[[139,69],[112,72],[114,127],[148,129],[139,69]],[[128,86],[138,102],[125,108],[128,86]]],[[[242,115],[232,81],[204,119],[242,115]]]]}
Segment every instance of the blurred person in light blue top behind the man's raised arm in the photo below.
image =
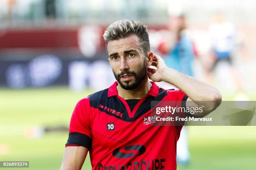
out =
{"type": "Polygon", "coordinates": [[[184,16],[173,17],[169,30],[171,36],[159,45],[160,52],[166,54],[165,63],[174,70],[192,76],[192,61],[196,50],[189,37],[184,16]]]}

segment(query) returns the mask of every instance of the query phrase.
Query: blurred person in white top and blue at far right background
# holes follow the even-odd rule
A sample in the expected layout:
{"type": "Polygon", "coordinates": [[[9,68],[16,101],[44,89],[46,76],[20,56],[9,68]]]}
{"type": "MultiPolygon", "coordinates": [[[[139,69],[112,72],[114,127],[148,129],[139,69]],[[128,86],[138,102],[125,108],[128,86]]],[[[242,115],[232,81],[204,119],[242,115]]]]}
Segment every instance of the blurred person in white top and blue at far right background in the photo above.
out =
{"type": "Polygon", "coordinates": [[[233,66],[233,56],[238,44],[238,33],[235,26],[226,21],[221,13],[216,13],[213,16],[208,31],[212,42],[211,54],[213,58],[213,65],[209,71],[215,72],[219,77],[222,76],[223,81],[221,82],[228,82],[227,77],[230,77],[232,86],[236,86],[232,90],[241,92],[242,81],[236,68],[233,66]]]}

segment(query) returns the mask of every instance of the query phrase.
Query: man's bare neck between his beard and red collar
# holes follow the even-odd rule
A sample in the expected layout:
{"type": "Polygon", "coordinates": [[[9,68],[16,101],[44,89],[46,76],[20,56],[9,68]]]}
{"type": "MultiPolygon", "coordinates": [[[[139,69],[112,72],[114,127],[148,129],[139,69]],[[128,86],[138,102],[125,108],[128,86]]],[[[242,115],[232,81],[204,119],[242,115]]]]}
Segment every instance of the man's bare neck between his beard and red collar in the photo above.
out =
{"type": "Polygon", "coordinates": [[[146,96],[146,94],[150,90],[151,85],[152,85],[151,82],[149,82],[148,79],[146,79],[146,80],[143,80],[143,82],[141,82],[141,84],[136,89],[125,90],[118,83],[118,86],[117,86],[118,95],[125,100],[142,99],[143,97],[146,96]]]}

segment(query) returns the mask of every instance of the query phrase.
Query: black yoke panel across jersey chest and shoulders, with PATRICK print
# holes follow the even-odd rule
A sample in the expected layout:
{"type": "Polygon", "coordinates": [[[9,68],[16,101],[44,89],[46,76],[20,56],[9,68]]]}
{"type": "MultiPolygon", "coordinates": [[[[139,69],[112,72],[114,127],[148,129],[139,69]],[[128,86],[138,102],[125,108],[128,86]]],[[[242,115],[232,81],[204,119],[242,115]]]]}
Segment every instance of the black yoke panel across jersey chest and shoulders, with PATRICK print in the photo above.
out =
{"type": "Polygon", "coordinates": [[[159,88],[159,94],[156,97],[149,95],[146,100],[144,100],[141,105],[138,107],[134,117],[130,118],[128,116],[128,111],[126,110],[125,105],[123,102],[118,99],[117,96],[108,97],[108,89],[93,93],[89,95],[90,105],[101,112],[105,112],[108,115],[117,117],[118,119],[124,120],[126,122],[133,122],[134,120],[138,119],[146,112],[151,110],[151,101],[161,101],[167,95],[167,90],[163,90],[159,88]],[[101,107],[100,107],[101,106],[101,107]],[[110,108],[111,110],[115,110],[117,112],[123,113],[122,117],[112,114],[105,107],[110,108]]]}

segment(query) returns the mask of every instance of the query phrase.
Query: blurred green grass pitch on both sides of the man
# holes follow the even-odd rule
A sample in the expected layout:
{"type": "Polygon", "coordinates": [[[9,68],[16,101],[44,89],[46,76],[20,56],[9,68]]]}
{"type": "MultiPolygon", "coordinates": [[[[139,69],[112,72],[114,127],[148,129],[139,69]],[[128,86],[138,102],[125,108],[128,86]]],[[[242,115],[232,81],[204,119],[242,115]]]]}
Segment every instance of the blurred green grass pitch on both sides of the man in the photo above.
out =
{"type": "MultiPolygon", "coordinates": [[[[46,133],[35,139],[24,136],[24,131],[29,126],[68,126],[77,101],[90,93],[67,87],[0,89],[0,149],[7,146],[6,153],[0,150],[0,161],[29,161],[30,170],[59,169],[68,133],[46,133]]],[[[255,169],[256,127],[191,126],[188,130],[192,161],[179,170],[255,169]]],[[[8,168],[12,169],[17,168],[8,168]]],[[[90,169],[87,159],[83,170],[90,169]]]]}

